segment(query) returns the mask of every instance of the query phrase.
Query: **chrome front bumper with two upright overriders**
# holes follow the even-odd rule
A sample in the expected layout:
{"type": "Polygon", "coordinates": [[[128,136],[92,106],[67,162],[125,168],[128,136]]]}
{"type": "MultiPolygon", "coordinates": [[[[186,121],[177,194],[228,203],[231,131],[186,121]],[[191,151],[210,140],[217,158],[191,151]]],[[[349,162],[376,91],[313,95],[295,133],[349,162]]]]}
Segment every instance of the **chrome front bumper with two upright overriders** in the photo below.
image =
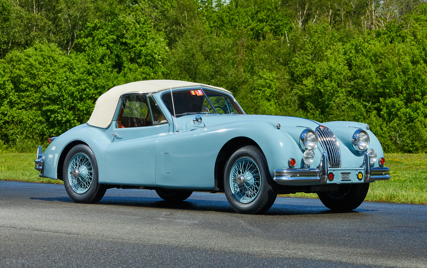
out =
{"type": "MultiPolygon", "coordinates": [[[[369,154],[365,153],[363,165],[360,167],[364,171],[363,181],[357,182],[374,182],[378,180],[388,180],[390,179],[390,169],[388,167],[371,167],[369,163],[369,154]]],[[[331,169],[335,171],[334,173],[337,178],[340,174],[340,171],[331,169]]],[[[322,153],[321,164],[317,168],[286,168],[278,169],[274,171],[273,180],[278,184],[283,185],[298,185],[298,184],[324,184],[327,182],[328,178],[328,163],[325,153],[322,153]]],[[[339,179],[334,180],[329,183],[342,183],[339,179]]],[[[351,182],[351,181],[350,181],[351,182]]],[[[348,182],[344,182],[348,183],[348,182]]]]}

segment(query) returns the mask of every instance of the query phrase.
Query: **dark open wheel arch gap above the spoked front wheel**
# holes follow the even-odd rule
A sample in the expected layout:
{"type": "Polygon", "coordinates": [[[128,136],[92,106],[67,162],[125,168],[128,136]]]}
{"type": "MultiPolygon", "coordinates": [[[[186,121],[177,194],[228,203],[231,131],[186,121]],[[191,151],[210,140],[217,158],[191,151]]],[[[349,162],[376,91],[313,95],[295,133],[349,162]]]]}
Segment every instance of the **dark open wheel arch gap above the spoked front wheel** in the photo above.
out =
{"type": "Polygon", "coordinates": [[[215,160],[215,169],[214,169],[214,179],[215,179],[215,186],[214,190],[223,192],[223,184],[224,184],[224,168],[225,168],[225,162],[227,159],[239,148],[246,146],[246,145],[253,145],[258,147],[261,152],[263,153],[263,150],[261,147],[257,144],[256,141],[254,141],[252,138],[239,136],[234,137],[227,141],[224,146],[222,146],[221,150],[219,150],[218,155],[216,156],[215,160]]]}

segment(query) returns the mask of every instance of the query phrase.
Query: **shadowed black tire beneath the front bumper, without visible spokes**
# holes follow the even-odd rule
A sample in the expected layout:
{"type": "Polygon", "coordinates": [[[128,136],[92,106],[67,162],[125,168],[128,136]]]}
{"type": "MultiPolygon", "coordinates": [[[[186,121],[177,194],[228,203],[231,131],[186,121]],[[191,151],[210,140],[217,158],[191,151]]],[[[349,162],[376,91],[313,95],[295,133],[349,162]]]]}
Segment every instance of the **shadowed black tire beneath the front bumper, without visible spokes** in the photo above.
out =
{"type": "Polygon", "coordinates": [[[320,201],[330,210],[354,210],[365,200],[369,183],[341,184],[337,192],[318,193],[320,201]]]}

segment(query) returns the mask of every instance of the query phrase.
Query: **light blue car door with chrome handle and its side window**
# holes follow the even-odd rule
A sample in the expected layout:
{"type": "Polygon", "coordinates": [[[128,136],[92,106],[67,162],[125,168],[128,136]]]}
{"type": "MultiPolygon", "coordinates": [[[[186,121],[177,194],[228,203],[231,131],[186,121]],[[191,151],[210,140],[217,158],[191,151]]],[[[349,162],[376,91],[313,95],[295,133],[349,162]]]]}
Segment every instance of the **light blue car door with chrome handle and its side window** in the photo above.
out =
{"type": "Polygon", "coordinates": [[[155,144],[169,124],[150,95],[125,95],[105,147],[107,184],[155,186],[155,144]],[[151,109],[150,109],[151,107],[151,109]]]}

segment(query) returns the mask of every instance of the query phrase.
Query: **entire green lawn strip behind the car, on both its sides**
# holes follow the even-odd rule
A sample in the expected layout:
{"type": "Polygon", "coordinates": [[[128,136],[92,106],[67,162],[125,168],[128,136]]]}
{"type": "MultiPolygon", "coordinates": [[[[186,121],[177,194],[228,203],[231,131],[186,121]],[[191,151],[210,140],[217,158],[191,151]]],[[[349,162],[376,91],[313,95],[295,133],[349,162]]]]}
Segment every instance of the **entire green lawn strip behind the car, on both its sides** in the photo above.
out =
{"type": "MultiPolygon", "coordinates": [[[[377,181],[369,187],[367,201],[427,204],[427,154],[386,154],[391,179],[377,181]]],[[[61,180],[39,178],[34,169],[34,153],[0,153],[0,180],[49,182],[61,180]]],[[[317,198],[315,193],[283,196],[317,198]]]]}

